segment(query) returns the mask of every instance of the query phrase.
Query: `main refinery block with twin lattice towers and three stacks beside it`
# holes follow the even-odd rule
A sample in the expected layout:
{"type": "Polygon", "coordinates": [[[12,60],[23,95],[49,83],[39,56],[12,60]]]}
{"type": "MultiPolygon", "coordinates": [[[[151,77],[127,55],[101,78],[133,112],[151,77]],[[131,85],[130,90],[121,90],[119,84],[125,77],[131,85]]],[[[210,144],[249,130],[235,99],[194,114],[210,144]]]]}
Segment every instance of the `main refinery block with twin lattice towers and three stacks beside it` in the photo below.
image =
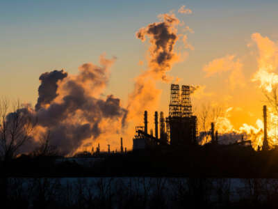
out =
{"type": "Polygon", "coordinates": [[[197,117],[193,116],[190,101],[190,86],[171,84],[169,116],[160,113],[160,134],[158,136],[158,112],[154,113],[154,133],[148,132],[148,113],[144,114],[144,126],[136,127],[133,150],[154,146],[193,146],[197,144],[197,117]],[[166,130],[165,130],[166,127],[166,130]]]}

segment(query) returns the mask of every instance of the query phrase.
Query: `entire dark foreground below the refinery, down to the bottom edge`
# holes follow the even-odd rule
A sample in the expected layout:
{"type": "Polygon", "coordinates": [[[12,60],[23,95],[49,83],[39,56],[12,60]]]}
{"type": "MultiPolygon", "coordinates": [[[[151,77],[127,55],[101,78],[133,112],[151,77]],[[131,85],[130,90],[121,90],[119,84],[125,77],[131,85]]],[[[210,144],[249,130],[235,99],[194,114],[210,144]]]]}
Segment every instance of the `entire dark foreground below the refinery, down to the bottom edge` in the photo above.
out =
{"type": "Polygon", "coordinates": [[[2,161],[0,177],[4,208],[276,208],[278,150],[207,144],[22,155],[2,161]]]}

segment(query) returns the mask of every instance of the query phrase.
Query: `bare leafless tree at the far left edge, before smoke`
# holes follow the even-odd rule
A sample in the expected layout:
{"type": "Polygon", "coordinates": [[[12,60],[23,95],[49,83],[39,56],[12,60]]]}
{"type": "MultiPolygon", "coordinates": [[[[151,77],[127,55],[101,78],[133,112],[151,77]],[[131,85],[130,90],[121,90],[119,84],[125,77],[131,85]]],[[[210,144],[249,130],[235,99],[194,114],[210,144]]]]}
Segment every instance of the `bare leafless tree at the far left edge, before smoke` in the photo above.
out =
{"type": "Polygon", "coordinates": [[[27,107],[17,100],[13,105],[6,98],[0,100],[0,155],[4,162],[13,159],[26,141],[31,139],[31,133],[36,120],[27,107]],[[8,113],[9,109],[12,109],[8,113]]]}

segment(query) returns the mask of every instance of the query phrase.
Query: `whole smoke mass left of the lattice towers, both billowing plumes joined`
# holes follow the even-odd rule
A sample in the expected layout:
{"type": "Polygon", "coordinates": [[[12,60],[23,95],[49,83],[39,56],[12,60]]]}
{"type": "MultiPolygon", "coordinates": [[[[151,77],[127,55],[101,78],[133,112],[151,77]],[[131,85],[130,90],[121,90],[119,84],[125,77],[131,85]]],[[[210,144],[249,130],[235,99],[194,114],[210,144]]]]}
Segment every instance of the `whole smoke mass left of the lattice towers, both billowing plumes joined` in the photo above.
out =
{"type": "Polygon", "coordinates": [[[173,13],[158,17],[161,22],[149,24],[136,33],[142,42],[149,38],[149,68],[135,78],[126,109],[113,95],[103,98],[108,69],[115,59],[101,56],[100,66],[85,63],[78,75],[54,70],[40,76],[38,102],[35,109],[28,110],[38,118],[29,148],[35,146],[41,134],[50,132],[52,144],[63,154],[70,155],[92,141],[115,137],[122,132],[126,120],[141,116],[145,109],[156,108],[161,95],[156,82],[172,80],[166,73],[179,61],[174,46],[181,37],[177,33],[180,21],[173,13]]]}

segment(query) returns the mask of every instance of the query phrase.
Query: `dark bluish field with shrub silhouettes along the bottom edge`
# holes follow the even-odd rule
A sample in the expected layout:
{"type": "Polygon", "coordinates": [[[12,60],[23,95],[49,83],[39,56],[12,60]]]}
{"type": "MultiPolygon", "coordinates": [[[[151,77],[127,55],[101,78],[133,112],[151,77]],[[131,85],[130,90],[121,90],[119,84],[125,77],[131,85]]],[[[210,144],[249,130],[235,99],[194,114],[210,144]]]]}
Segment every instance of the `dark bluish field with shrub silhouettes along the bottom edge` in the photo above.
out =
{"type": "Polygon", "coordinates": [[[7,183],[3,208],[277,208],[278,203],[274,179],[8,178],[7,183]]]}

